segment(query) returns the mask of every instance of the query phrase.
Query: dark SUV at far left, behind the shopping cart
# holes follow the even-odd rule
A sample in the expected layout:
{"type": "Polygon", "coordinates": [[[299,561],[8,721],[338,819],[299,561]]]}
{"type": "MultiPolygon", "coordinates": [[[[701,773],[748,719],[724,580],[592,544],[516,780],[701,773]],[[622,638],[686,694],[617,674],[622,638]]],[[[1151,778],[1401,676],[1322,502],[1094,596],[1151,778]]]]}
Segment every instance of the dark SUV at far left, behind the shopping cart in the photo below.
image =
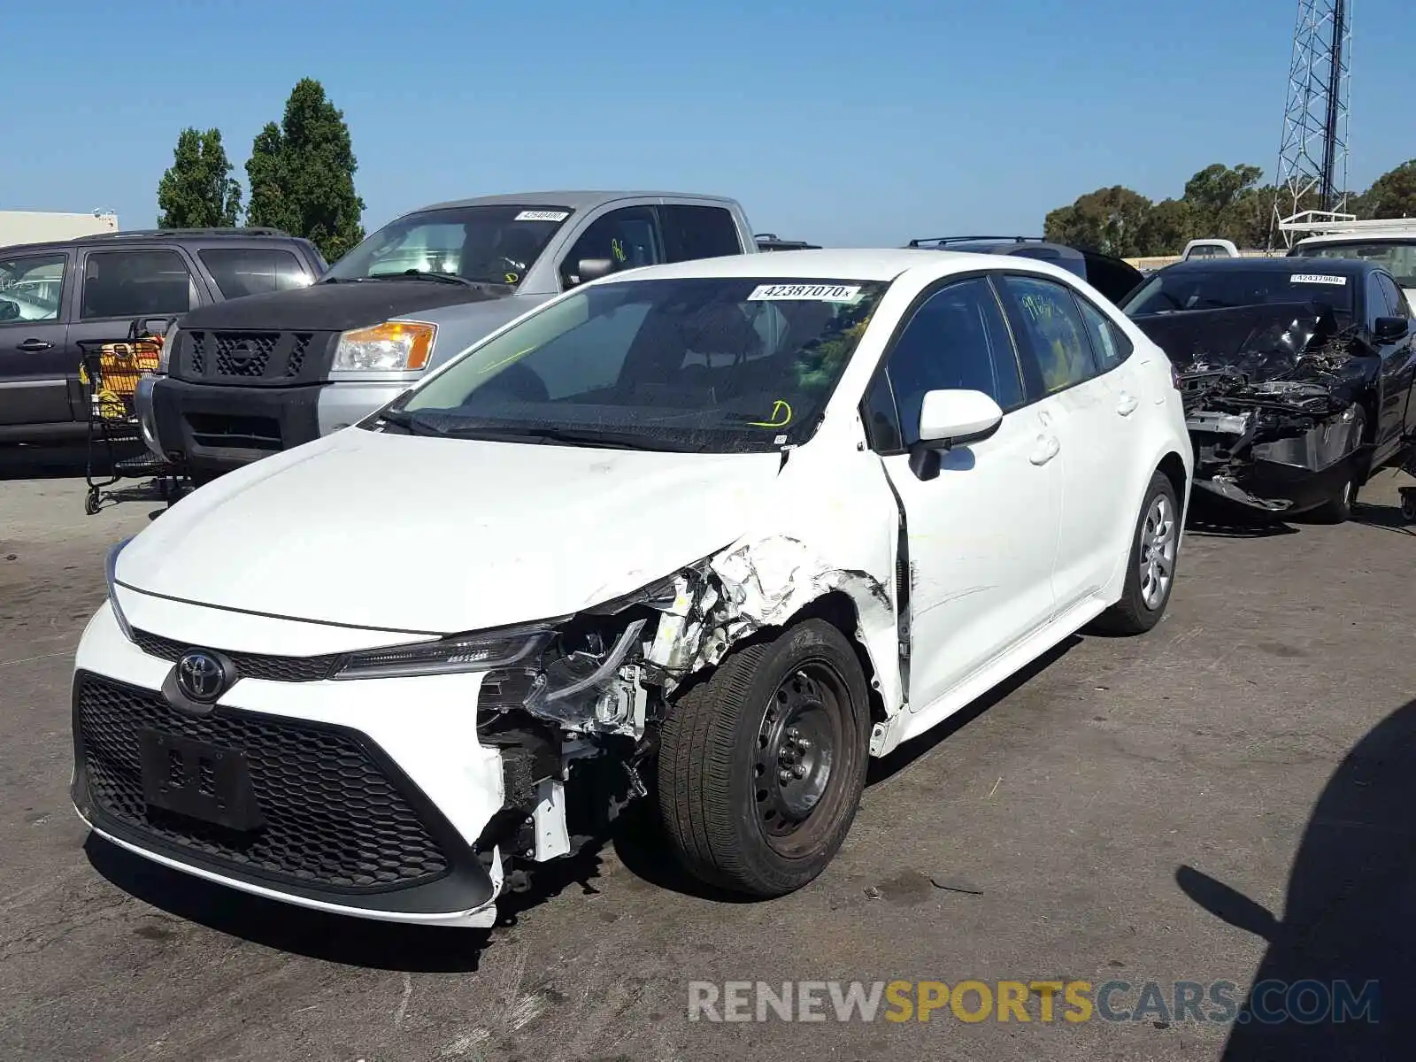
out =
{"type": "Polygon", "coordinates": [[[0,248],[0,442],[88,428],[79,343],[122,338],[143,317],[309,285],[314,245],[279,229],[102,232],[0,248]]]}

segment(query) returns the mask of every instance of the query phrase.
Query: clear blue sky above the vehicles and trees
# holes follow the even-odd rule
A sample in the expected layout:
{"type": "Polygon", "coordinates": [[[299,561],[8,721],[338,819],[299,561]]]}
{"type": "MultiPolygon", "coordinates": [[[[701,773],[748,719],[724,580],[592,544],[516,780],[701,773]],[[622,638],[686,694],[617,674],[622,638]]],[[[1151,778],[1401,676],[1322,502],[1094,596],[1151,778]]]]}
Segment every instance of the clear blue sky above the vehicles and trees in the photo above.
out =
{"type": "MultiPolygon", "coordinates": [[[[152,225],[184,126],[219,127],[244,178],[255,133],[313,76],[348,120],[368,228],[483,193],[657,187],[735,195],[759,231],[843,246],[1032,234],[1100,185],[1163,198],[1214,161],[1272,171],[1297,4],[10,7],[6,40],[45,58],[6,108],[4,210],[152,225]]],[[[1349,184],[1365,188],[1416,156],[1392,31],[1410,11],[1354,8],[1349,184]]]]}

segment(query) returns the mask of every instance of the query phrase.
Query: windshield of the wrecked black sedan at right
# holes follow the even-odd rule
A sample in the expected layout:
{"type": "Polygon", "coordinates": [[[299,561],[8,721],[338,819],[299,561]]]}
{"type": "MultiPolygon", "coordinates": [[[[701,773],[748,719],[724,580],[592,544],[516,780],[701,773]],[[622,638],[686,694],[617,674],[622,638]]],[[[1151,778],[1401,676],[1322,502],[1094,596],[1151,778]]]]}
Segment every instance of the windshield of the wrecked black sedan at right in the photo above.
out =
{"type": "Polygon", "coordinates": [[[1293,269],[1163,269],[1137,287],[1121,303],[1121,310],[1129,317],[1143,317],[1315,302],[1331,306],[1340,319],[1351,319],[1355,286],[1348,276],[1324,275],[1297,263],[1293,269]]]}

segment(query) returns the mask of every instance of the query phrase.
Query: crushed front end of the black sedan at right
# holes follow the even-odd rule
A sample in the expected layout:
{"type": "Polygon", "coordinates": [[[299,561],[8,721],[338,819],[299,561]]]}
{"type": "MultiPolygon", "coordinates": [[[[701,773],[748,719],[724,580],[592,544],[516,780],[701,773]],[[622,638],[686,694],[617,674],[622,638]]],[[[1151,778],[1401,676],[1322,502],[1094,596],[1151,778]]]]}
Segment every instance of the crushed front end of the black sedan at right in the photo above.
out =
{"type": "Polygon", "coordinates": [[[1133,320],[1178,374],[1195,487],[1269,513],[1349,504],[1381,357],[1348,314],[1294,300],[1133,320]]]}

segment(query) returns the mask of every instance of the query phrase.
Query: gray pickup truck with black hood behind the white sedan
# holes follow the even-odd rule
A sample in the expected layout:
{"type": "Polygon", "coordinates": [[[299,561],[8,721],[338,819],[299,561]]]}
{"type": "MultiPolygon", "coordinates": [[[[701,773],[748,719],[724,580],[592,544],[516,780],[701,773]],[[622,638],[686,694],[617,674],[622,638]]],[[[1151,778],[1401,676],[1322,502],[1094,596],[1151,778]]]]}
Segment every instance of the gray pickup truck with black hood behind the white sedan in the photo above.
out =
{"type": "Polygon", "coordinates": [[[139,388],[143,433],[200,483],[357,423],[579,283],[756,252],[742,207],[711,195],[547,191],[425,207],[309,287],[185,314],[139,388]]]}

